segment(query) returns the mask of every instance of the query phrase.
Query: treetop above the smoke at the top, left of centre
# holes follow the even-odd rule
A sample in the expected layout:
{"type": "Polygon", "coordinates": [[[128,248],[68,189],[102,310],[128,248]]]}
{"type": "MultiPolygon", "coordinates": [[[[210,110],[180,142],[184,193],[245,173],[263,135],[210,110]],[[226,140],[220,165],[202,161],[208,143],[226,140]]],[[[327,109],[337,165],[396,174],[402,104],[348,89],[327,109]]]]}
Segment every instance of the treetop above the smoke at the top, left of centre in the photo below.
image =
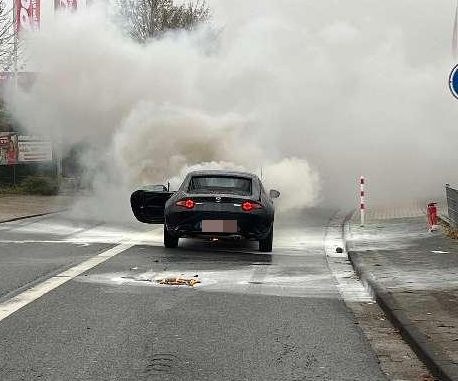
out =
{"type": "Polygon", "coordinates": [[[159,38],[171,30],[192,30],[210,17],[205,0],[181,5],[173,0],[118,0],[118,5],[124,26],[139,42],[159,38]]]}

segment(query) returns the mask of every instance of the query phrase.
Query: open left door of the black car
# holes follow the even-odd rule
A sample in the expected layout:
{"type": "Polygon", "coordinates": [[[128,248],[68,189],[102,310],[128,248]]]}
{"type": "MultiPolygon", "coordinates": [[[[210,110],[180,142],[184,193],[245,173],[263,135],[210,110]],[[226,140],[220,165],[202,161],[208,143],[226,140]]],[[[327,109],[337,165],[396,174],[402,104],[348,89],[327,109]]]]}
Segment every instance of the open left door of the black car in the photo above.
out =
{"type": "Polygon", "coordinates": [[[163,224],[165,203],[175,192],[163,185],[151,185],[137,189],[130,196],[130,206],[135,218],[145,224],[163,224]]]}

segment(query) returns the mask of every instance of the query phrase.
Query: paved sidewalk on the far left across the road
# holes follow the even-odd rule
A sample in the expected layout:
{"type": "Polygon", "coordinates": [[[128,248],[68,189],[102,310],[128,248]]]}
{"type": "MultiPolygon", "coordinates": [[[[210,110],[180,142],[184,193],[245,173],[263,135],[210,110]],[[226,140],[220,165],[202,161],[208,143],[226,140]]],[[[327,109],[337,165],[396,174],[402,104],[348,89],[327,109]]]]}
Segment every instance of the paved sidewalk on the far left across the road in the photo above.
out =
{"type": "Polygon", "coordinates": [[[0,222],[62,211],[74,200],[71,196],[0,195],[0,222]]]}

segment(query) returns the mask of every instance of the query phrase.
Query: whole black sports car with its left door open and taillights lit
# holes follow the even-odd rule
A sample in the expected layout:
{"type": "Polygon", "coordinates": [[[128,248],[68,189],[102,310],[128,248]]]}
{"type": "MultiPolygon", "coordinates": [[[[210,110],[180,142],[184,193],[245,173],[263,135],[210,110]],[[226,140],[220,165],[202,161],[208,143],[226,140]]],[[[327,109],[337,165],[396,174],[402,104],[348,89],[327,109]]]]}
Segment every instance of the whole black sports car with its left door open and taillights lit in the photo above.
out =
{"type": "Polygon", "coordinates": [[[256,175],[245,172],[190,172],[176,192],[163,185],[139,189],[130,198],[135,217],[164,223],[164,246],[178,246],[181,237],[232,238],[259,241],[272,251],[274,205],[280,192],[264,190],[256,175]]]}

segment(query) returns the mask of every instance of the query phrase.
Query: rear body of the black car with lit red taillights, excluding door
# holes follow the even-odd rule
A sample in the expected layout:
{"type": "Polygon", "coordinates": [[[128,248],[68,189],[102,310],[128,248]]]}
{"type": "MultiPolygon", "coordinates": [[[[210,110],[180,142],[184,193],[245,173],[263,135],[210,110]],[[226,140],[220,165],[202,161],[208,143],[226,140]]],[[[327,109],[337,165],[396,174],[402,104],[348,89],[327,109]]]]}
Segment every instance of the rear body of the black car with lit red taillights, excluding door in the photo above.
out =
{"type": "Polygon", "coordinates": [[[236,175],[191,176],[166,207],[165,222],[177,237],[263,239],[273,210],[255,179],[236,175]]]}

